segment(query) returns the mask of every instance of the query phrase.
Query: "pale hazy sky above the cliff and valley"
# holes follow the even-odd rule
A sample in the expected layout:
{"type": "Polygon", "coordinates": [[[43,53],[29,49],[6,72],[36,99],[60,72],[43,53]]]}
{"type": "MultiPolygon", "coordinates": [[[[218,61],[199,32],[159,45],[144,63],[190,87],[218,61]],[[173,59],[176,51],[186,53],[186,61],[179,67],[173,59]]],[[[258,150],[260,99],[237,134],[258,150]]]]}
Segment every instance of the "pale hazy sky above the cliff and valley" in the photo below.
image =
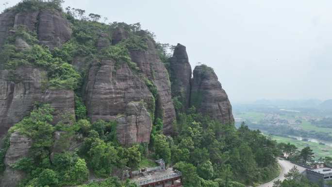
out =
{"type": "MultiPolygon", "coordinates": [[[[10,5],[19,0],[8,1],[10,5]]],[[[332,0],[66,0],[140,22],[215,69],[231,102],[332,98],[332,0]]]]}

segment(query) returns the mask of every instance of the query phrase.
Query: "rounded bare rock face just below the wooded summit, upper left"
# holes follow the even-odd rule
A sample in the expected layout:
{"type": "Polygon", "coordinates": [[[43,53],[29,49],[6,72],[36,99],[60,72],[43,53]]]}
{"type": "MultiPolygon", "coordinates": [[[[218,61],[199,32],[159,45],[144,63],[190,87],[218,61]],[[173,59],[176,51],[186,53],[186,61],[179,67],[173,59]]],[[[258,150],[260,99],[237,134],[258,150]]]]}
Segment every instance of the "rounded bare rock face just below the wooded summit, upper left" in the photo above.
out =
{"type": "Polygon", "coordinates": [[[50,49],[60,47],[70,39],[69,22],[59,11],[42,10],[39,13],[38,40],[50,49]]]}

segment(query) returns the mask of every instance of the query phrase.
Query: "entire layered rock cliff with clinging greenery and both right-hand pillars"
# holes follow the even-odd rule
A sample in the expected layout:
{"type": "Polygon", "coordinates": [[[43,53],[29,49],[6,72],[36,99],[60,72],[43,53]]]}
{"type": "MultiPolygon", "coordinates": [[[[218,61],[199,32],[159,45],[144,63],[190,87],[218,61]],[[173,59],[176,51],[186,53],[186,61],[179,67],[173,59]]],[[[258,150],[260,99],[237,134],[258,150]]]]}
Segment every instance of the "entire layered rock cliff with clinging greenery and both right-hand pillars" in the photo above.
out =
{"type": "MultiPolygon", "coordinates": [[[[86,107],[81,114],[83,119],[90,119],[91,123],[99,119],[117,122],[116,138],[123,146],[149,143],[157,118],[163,120],[164,134],[174,134],[173,100],[176,99],[183,105],[177,112],[185,113],[195,106],[199,113],[222,123],[234,121],[231,103],[213,69],[198,66],[191,78],[185,46],[178,44],[173,56],[165,62],[152,34],[135,24],[106,25],[85,18],[75,20],[73,15],[60,10],[30,7],[0,14],[0,52],[10,41],[7,53],[11,55],[6,57],[12,60],[0,60],[3,62],[0,63],[0,140],[33,110],[36,102],[50,103],[55,109],[52,121],[55,125],[65,113],[74,116],[77,97],[82,97],[79,98],[84,102],[82,107],[86,107]],[[17,36],[21,27],[24,32],[17,36]],[[39,48],[31,50],[35,46],[39,48]],[[30,61],[22,57],[27,51],[33,53],[30,61]],[[169,72],[165,66],[168,62],[169,72]],[[80,78],[68,75],[76,73],[80,78]],[[50,80],[57,85],[49,86],[50,80]],[[65,89],[62,84],[75,86],[65,89]]],[[[86,134],[76,130],[66,136],[65,132],[55,131],[50,160],[56,153],[78,148],[86,134]],[[80,138],[75,139],[74,134],[80,138]],[[61,143],[66,140],[68,144],[63,147],[61,143]]],[[[13,170],[10,165],[27,156],[32,143],[17,132],[11,134],[0,187],[16,186],[24,178],[24,172],[13,170]]]]}

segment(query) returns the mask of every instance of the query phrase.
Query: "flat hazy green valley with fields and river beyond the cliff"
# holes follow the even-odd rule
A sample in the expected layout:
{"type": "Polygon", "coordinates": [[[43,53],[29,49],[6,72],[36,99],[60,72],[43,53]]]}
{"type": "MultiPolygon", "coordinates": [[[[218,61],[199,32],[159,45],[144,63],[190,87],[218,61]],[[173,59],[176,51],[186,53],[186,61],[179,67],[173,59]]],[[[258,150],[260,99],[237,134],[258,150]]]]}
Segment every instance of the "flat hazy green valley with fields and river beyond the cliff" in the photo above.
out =
{"type": "MultiPolygon", "coordinates": [[[[277,111],[278,112],[278,111],[277,111]]],[[[276,114],[279,114],[277,113],[276,114]]],[[[271,114],[270,112],[267,114],[271,114]]],[[[273,113],[272,113],[273,114],[273,113]]],[[[318,118],[316,114],[310,114],[310,118],[318,118]]],[[[319,157],[331,156],[332,145],[332,128],[328,126],[319,126],[318,123],[327,124],[328,119],[320,120],[305,120],[303,118],[308,117],[306,113],[280,113],[280,119],[287,119],[290,121],[299,121],[298,124],[292,125],[268,125],[263,123],[262,119],[265,117],[263,112],[237,112],[235,114],[237,118],[246,120],[246,124],[251,129],[260,129],[266,135],[278,141],[278,143],[291,143],[296,147],[303,149],[310,146],[315,153],[315,159],[319,157]],[[301,120],[300,120],[301,119],[301,120]],[[314,124],[316,123],[316,124],[314,124]],[[296,137],[302,137],[303,140],[297,140],[296,137]],[[310,138],[314,138],[312,141],[310,138]]]]}

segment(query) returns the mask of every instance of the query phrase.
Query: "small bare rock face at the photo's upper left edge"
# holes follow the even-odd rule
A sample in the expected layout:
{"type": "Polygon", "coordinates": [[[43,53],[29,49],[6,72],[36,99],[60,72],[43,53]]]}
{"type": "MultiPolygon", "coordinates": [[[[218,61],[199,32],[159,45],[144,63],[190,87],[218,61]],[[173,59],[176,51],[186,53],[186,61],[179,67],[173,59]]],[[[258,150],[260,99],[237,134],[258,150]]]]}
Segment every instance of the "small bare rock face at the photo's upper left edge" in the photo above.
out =
{"type": "Polygon", "coordinates": [[[15,13],[12,11],[0,14],[0,50],[9,34],[8,29],[14,25],[14,19],[15,13]]]}

